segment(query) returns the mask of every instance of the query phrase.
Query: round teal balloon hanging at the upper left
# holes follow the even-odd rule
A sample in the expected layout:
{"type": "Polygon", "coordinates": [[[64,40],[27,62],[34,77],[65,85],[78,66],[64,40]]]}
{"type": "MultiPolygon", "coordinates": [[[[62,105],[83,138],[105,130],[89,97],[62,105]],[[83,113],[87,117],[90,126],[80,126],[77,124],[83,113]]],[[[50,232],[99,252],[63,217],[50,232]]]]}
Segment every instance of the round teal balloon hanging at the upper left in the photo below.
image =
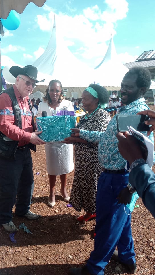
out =
{"type": "Polygon", "coordinates": [[[2,22],[2,25],[7,30],[14,31],[19,27],[19,25],[21,23],[21,19],[19,17],[19,14],[17,13],[17,11],[12,10],[12,11],[10,11],[7,19],[1,18],[1,22],[2,22]]]}

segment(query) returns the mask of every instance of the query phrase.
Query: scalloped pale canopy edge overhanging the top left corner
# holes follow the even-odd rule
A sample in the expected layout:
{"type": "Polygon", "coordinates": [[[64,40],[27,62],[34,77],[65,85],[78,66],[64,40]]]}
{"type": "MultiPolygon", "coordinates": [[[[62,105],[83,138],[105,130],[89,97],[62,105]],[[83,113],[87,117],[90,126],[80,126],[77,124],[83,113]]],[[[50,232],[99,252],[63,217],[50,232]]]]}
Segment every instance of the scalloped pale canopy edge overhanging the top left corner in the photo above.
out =
{"type": "Polygon", "coordinates": [[[6,19],[12,9],[22,13],[28,3],[42,7],[46,0],[0,0],[0,18],[6,19]]]}

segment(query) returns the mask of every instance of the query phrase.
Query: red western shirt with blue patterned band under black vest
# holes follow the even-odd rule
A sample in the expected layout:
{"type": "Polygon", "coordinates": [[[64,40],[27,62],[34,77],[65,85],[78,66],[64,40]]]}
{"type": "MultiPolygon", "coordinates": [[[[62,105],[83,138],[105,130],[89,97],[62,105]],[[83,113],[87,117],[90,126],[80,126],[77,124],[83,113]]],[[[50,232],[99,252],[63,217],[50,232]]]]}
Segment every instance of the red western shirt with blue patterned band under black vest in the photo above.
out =
{"type": "Polygon", "coordinates": [[[31,133],[33,132],[33,126],[31,123],[32,113],[28,105],[29,97],[26,97],[23,100],[23,97],[15,85],[13,85],[13,89],[21,110],[22,129],[13,124],[14,114],[11,98],[7,93],[2,93],[0,95],[0,131],[12,140],[18,140],[18,146],[23,146],[29,143],[31,133]]]}

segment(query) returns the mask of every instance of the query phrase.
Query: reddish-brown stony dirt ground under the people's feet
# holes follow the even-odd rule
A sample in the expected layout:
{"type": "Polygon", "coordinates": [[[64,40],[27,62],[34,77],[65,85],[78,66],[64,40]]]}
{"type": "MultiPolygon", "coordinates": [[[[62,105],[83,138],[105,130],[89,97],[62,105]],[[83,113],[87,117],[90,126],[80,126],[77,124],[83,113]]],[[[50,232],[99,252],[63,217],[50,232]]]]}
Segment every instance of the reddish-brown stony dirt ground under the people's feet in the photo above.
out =
{"type": "MultiPolygon", "coordinates": [[[[154,106],[150,106],[154,109],[154,106]]],[[[16,244],[0,227],[0,275],[66,275],[70,267],[83,266],[93,250],[92,239],[95,220],[84,224],[77,222],[79,213],[66,207],[60,194],[60,178],[56,180],[56,205],[48,206],[48,174],[44,146],[32,152],[35,180],[31,211],[43,217],[36,221],[18,218],[13,213],[16,226],[25,223],[32,232],[20,229],[15,234],[16,244]],[[38,174],[39,173],[39,174],[38,174]]],[[[155,172],[155,168],[153,167],[155,172]]],[[[70,193],[74,171],[68,174],[67,190],[70,193]]],[[[155,274],[155,220],[138,199],[132,213],[132,233],[137,261],[137,275],[155,274]]],[[[13,209],[14,211],[14,209],[13,209]]],[[[83,211],[80,215],[83,215],[83,211]]],[[[104,232],[103,232],[104,234],[104,232]]],[[[127,270],[113,260],[105,275],[127,274],[127,270]]]]}

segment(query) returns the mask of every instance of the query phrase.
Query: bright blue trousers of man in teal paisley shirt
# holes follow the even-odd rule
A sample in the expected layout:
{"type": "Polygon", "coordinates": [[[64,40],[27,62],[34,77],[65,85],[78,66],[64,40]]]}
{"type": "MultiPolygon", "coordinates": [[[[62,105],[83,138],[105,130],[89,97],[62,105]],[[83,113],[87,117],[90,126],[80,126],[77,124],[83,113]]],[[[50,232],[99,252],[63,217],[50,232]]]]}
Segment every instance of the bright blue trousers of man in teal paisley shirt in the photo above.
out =
{"type": "Polygon", "coordinates": [[[104,274],[105,266],[111,259],[116,246],[122,262],[127,264],[136,262],[131,232],[131,214],[127,215],[124,211],[124,204],[118,204],[117,200],[119,192],[128,184],[128,177],[129,173],[126,172],[124,174],[103,172],[99,178],[94,250],[86,264],[90,274],[104,274]]]}

